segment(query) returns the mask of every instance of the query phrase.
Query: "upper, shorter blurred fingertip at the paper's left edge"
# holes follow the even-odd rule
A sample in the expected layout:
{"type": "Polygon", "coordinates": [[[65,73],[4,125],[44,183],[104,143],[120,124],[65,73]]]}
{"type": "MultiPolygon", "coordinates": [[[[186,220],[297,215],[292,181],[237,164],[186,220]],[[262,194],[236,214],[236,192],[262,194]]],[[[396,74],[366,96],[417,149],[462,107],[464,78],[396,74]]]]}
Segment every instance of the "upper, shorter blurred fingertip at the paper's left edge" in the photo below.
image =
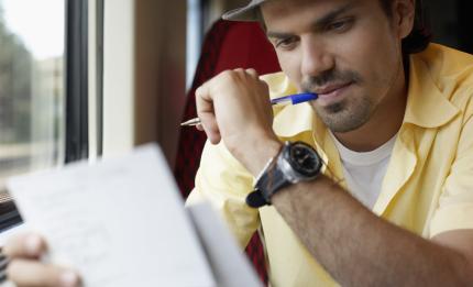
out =
{"type": "Polygon", "coordinates": [[[10,257],[38,258],[46,251],[46,243],[36,234],[22,234],[8,241],[3,253],[10,257]]]}

